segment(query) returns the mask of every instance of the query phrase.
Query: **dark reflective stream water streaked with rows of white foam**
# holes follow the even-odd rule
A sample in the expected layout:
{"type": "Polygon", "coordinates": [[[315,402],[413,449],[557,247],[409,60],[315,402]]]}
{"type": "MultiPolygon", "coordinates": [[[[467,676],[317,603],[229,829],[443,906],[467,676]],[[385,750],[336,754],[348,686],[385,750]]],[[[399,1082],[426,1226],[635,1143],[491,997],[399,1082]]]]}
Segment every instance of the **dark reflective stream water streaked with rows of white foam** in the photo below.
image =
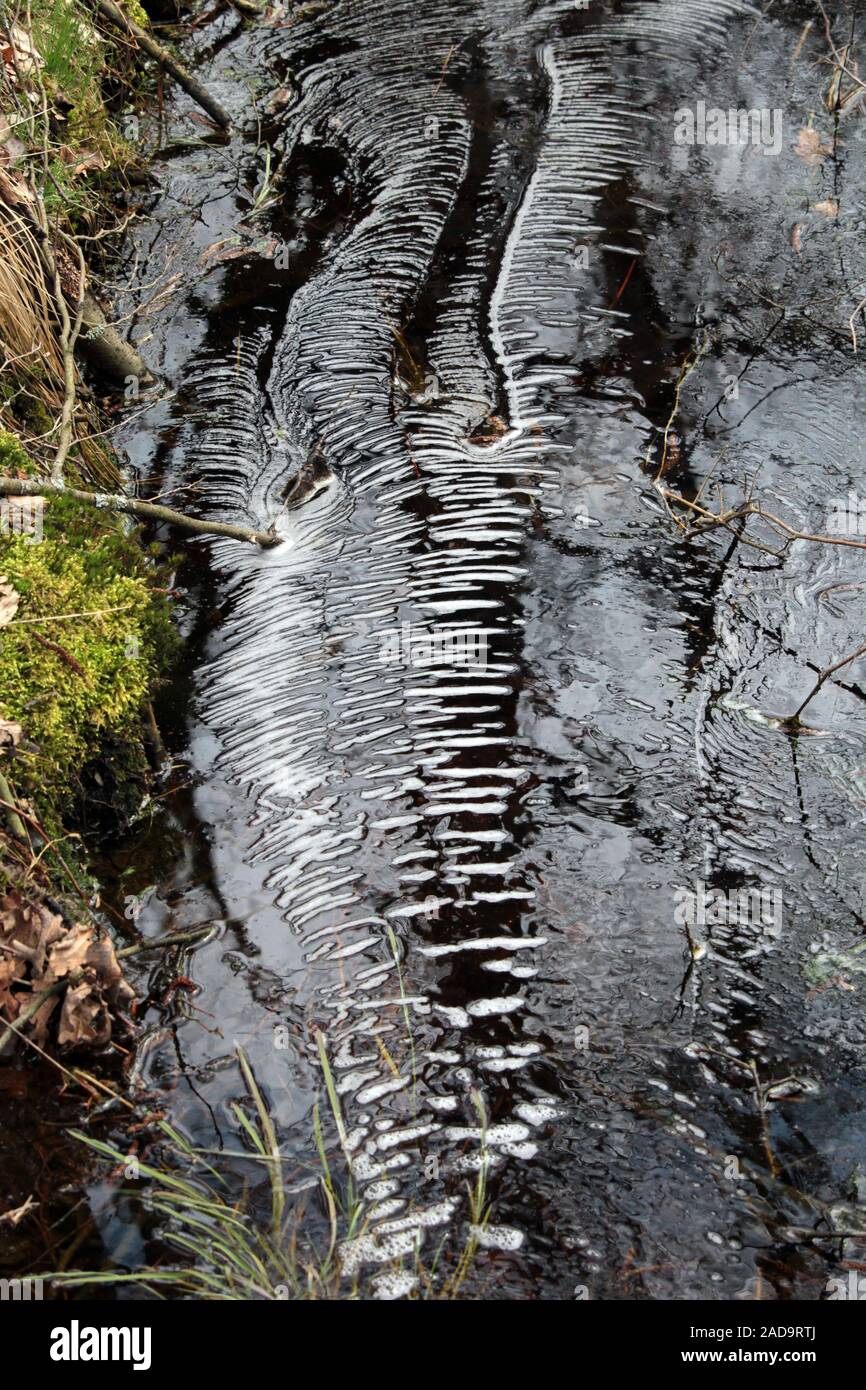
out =
{"type": "Polygon", "coordinates": [[[350,1268],[459,1247],[484,1162],[481,1297],[819,1298],[858,1258],[812,1236],[863,1229],[863,664],[774,716],[862,641],[863,550],[685,539],[653,485],[824,534],[860,484],[866,125],[813,18],[224,11],[238,133],[168,110],[120,302],[167,389],[120,443],[285,543],[189,546],[188,785],[124,884],[215,930],[136,1079],[239,1151],[242,1042],[309,1200],[321,1030],[350,1268]],[[677,143],[701,101],[777,150],[677,143]],[[753,897],[684,922],[699,885],[753,897]]]}

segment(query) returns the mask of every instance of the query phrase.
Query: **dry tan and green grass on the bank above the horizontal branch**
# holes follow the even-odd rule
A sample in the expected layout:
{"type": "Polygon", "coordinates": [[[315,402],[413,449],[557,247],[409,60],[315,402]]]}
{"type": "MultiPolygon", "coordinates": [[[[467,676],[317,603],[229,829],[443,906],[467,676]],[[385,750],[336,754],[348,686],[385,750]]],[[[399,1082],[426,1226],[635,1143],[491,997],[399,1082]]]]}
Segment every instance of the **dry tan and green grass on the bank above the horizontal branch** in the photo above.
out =
{"type": "MultiPolygon", "coordinates": [[[[81,234],[106,221],[104,175],[131,158],[101,95],[104,44],[76,0],[0,3],[0,428],[36,471],[70,457],[117,482],[72,353],[81,234]]],[[[97,234],[97,238],[101,234],[97,234]]]]}

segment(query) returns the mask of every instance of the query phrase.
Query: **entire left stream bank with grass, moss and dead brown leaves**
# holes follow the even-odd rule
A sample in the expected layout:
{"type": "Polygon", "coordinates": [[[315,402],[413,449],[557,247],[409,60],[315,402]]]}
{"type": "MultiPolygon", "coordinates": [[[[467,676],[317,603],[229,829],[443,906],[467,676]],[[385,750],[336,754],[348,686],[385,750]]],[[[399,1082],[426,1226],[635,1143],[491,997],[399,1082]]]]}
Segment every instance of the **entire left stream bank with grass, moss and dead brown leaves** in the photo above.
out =
{"type": "Polygon", "coordinates": [[[153,382],[99,306],[146,83],[86,6],[1,19],[0,1230],[4,1276],[35,1276],[90,1248],[67,1130],[125,1087],[135,1041],[96,860],[158,792],[178,637],[168,534],[107,505],[118,407],[153,382]]]}

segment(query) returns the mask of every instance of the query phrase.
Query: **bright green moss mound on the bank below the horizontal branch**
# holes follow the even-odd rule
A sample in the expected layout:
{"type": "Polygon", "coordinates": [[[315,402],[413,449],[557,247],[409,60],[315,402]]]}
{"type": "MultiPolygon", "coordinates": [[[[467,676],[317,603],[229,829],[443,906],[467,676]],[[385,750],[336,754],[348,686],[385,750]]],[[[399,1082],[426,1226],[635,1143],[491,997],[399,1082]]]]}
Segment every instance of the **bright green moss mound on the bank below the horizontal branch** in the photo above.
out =
{"type": "Polygon", "coordinates": [[[46,503],[40,542],[0,538],[0,574],[21,595],[0,631],[0,714],[35,745],[15,784],[63,813],[107,746],[143,770],[142,708],[177,644],[168,603],[135,538],[68,498],[46,503]]]}

